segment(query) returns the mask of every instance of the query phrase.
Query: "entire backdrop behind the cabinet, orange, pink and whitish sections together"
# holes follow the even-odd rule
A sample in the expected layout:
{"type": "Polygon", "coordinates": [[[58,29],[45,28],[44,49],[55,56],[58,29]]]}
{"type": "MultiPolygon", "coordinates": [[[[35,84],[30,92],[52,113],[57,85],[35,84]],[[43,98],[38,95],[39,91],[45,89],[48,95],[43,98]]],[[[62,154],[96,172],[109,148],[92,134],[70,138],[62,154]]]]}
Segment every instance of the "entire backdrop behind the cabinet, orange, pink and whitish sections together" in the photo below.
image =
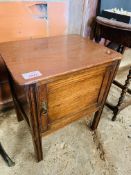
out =
{"type": "MultiPolygon", "coordinates": [[[[43,1],[46,2],[46,1],[43,1]]],[[[48,19],[36,8],[43,2],[0,3],[0,42],[90,32],[97,0],[47,1],[48,19]]]]}

